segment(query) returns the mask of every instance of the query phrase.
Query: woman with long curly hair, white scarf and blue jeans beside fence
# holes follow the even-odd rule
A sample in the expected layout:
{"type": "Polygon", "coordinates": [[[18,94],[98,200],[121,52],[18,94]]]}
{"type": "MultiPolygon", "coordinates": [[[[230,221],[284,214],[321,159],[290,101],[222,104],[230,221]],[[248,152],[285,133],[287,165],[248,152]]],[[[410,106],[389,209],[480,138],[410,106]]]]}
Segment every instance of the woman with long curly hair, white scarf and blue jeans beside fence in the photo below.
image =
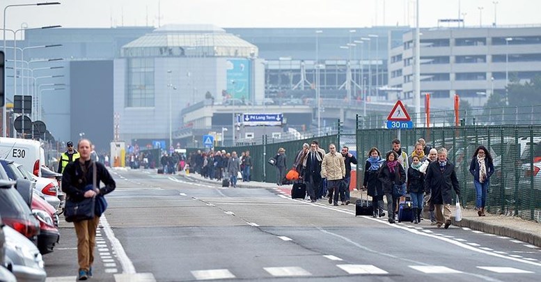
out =
{"type": "Polygon", "coordinates": [[[473,175],[473,185],[476,187],[476,210],[480,217],[485,216],[485,203],[489,179],[494,173],[492,156],[485,146],[479,146],[471,158],[469,172],[473,175]]]}

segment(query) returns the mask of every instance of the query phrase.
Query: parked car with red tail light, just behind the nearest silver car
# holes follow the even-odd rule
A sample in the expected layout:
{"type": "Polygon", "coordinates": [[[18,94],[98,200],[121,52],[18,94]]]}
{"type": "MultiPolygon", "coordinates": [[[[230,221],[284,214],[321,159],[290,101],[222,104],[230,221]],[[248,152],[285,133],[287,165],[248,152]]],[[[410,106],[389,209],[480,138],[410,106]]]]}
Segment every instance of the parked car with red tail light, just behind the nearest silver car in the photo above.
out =
{"type": "MultiPolygon", "coordinates": [[[[3,169],[0,169],[3,171],[3,169]]],[[[40,233],[38,219],[32,214],[29,204],[15,190],[15,182],[0,180],[0,216],[3,223],[17,230],[33,242],[37,242],[40,233]]]]}

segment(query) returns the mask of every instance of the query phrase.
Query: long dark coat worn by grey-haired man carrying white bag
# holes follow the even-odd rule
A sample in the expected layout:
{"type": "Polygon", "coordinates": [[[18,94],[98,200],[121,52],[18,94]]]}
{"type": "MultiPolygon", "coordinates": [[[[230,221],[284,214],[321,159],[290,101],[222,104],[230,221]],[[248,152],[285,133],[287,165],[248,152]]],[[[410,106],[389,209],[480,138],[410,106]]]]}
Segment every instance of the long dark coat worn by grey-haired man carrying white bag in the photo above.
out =
{"type": "Polygon", "coordinates": [[[458,184],[455,165],[447,161],[444,171],[439,169],[439,162],[431,162],[426,169],[425,192],[432,194],[430,199],[434,205],[446,205],[453,203],[453,193],[460,196],[460,185],[458,184]]]}

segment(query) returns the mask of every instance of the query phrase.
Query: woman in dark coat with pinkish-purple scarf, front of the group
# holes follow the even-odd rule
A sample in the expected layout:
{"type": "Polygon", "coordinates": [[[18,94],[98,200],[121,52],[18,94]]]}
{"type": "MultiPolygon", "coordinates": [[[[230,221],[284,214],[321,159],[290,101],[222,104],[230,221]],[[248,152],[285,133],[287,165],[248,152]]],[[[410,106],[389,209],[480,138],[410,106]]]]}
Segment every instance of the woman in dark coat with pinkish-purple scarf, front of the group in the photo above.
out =
{"type": "Polygon", "coordinates": [[[406,173],[402,165],[398,163],[398,154],[393,150],[385,155],[385,162],[377,174],[382,182],[383,192],[387,200],[387,212],[389,212],[389,224],[395,223],[395,210],[401,194],[394,191],[402,191],[402,185],[406,181],[406,173]]]}

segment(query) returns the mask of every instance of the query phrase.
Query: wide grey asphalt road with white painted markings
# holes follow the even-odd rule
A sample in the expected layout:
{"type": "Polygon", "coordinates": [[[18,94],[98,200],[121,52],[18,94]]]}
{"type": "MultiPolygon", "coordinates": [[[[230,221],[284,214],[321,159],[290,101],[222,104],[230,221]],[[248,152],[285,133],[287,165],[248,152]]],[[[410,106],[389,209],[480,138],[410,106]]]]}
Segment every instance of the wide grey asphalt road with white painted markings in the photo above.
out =
{"type": "MultiPolygon", "coordinates": [[[[150,170],[111,170],[95,281],[535,281],[541,249],[468,228],[354,217],[353,205],[280,189],[221,188],[150,170]]],[[[103,219],[103,218],[102,218],[103,219]]],[[[45,256],[72,281],[75,233],[45,256]]]]}

